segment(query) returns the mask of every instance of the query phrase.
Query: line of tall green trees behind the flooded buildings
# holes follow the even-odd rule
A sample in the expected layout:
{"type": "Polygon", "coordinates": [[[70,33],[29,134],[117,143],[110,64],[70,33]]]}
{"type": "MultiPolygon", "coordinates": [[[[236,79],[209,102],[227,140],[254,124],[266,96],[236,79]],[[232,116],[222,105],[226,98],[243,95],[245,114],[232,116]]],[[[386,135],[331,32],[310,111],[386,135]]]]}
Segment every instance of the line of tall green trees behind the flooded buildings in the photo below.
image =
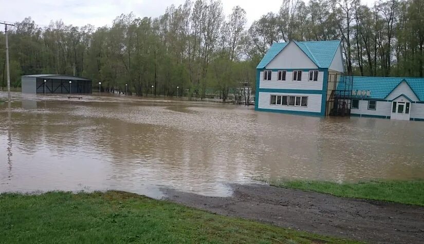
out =
{"type": "MultiPolygon", "coordinates": [[[[278,7],[276,7],[278,9],[278,7]]],[[[159,17],[116,17],[111,27],[62,21],[37,25],[30,17],[9,31],[13,86],[23,74],[73,74],[107,90],[136,95],[224,100],[235,87],[252,86],[255,67],[274,42],[341,40],[348,73],[423,77],[424,1],[282,0],[279,11],[247,26],[236,6],[225,16],[220,0],[187,0],[159,17]],[[153,88],[152,88],[153,86],[153,88]]],[[[5,35],[0,32],[0,75],[5,35]]],[[[0,77],[1,79],[2,77],[0,77]]],[[[4,78],[2,80],[2,83],[4,78]]]]}

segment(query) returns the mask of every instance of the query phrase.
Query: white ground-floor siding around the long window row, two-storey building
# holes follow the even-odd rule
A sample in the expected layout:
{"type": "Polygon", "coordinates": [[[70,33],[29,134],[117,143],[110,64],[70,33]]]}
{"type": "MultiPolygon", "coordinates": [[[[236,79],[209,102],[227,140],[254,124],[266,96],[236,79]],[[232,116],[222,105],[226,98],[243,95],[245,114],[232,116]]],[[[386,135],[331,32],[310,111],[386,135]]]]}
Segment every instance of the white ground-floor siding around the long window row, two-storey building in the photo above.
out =
{"type": "Polygon", "coordinates": [[[304,111],[304,112],[321,112],[321,94],[299,94],[299,93],[276,93],[276,92],[259,92],[258,108],[288,110],[288,111],[304,111]],[[284,96],[307,96],[307,107],[294,107],[282,105],[270,105],[271,95],[284,96]]]}

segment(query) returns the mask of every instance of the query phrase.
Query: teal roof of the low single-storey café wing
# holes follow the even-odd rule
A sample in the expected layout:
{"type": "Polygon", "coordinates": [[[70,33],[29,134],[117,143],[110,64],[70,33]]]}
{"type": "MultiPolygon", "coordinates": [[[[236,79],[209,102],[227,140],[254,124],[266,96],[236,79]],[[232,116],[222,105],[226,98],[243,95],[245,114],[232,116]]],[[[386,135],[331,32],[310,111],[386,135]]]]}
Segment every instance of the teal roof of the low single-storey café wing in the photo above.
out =
{"type": "MultiPolygon", "coordinates": [[[[353,77],[353,90],[369,90],[371,99],[385,99],[397,86],[405,81],[420,101],[424,101],[424,78],[403,77],[353,77]]],[[[344,86],[343,77],[337,86],[337,90],[344,86]]]]}

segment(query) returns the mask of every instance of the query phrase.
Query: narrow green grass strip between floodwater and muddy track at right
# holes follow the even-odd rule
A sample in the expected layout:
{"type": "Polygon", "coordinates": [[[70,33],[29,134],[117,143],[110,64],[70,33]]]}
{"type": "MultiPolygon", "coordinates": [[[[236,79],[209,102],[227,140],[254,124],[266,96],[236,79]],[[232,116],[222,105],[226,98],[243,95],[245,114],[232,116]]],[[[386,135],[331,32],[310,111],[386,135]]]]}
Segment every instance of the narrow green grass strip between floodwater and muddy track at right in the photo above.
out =
{"type": "Polygon", "coordinates": [[[424,180],[335,183],[327,181],[279,180],[271,185],[309,192],[424,206],[424,180]]]}

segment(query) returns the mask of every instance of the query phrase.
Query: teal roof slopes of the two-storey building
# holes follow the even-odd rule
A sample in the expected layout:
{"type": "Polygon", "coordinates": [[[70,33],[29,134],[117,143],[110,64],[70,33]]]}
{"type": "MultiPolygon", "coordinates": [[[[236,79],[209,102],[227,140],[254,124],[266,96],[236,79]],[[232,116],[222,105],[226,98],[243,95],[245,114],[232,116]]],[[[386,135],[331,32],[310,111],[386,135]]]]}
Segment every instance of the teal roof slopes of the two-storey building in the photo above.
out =
{"type": "MultiPolygon", "coordinates": [[[[314,62],[319,68],[329,68],[331,61],[333,61],[336,54],[337,48],[340,45],[340,41],[315,41],[315,42],[296,42],[296,45],[314,62]]],[[[274,43],[269,48],[264,58],[261,60],[256,68],[265,68],[279,54],[284,47],[287,46],[287,42],[274,43]]]]}

